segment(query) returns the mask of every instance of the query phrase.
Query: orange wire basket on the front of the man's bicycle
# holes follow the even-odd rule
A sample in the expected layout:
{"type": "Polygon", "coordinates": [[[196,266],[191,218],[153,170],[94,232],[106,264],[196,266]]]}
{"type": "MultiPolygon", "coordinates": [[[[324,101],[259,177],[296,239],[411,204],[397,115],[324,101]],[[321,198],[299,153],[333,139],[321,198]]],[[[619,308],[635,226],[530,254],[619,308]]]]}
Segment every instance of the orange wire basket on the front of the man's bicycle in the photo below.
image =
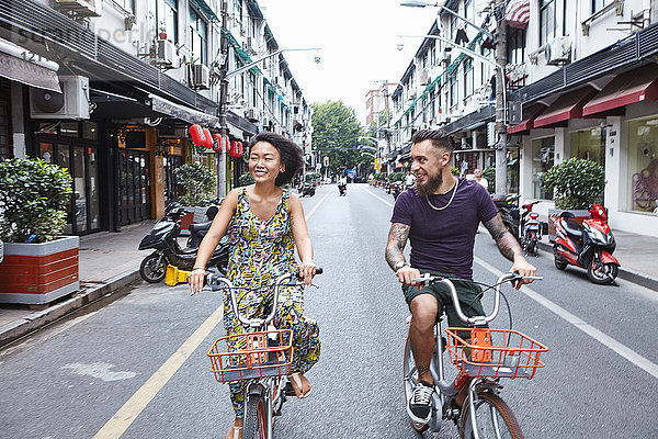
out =
{"type": "Polygon", "coordinates": [[[449,327],[446,349],[450,361],[468,376],[534,376],[544,363],[540,354],[548,348],[513,329],[449,327]],[[457,334],[469,331],[467,342],[457,334]]]}

